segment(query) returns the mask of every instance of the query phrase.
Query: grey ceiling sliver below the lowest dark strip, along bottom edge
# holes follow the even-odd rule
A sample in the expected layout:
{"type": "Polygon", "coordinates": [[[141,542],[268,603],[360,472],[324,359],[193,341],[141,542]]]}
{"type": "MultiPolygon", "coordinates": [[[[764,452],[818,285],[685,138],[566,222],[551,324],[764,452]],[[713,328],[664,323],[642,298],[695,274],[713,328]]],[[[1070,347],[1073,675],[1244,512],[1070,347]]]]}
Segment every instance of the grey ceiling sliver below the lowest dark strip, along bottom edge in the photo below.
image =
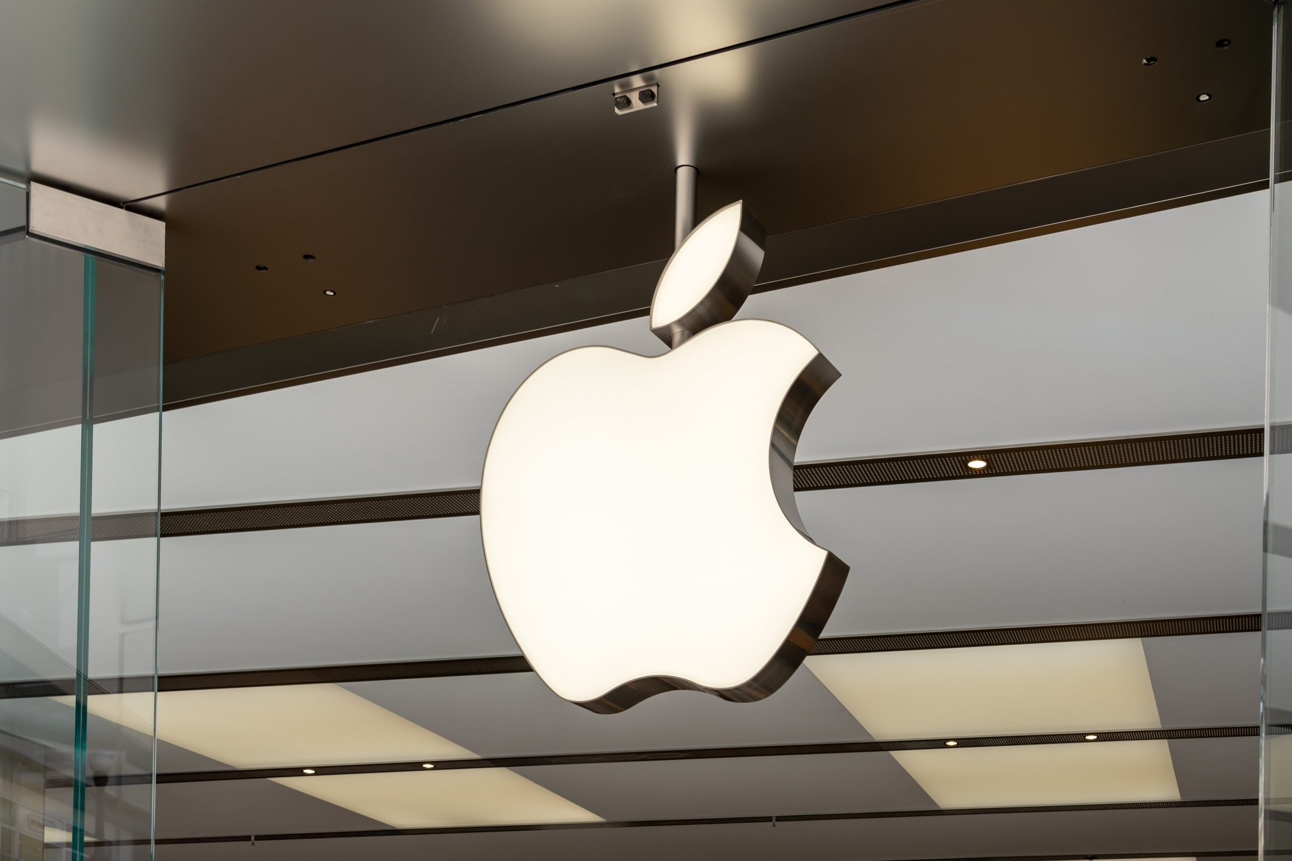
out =
{"type": "MultiPolygon", "coordinates": [[[[769,813],[770,816],[770,813],[769,813]]],[[[222,861],[255,852],[256,861],[873,861],[1016,855],[1162,852],[1256,848],[1256,807],[1017,813],[901,820],[841,820],[584,831],[522,831],[242,845],[163,845],[159,861],[222,861]],[[1168,849],[1169,851],[1169,849],[1168,849]]]]}

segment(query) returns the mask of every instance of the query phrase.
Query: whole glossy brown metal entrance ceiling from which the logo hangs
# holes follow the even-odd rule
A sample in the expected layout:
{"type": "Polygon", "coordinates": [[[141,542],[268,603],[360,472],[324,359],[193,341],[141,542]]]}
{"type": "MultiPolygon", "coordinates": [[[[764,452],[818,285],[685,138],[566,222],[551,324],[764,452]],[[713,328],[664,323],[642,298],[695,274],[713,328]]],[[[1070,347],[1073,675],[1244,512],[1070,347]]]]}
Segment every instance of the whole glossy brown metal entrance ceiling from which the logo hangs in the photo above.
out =
{"type": "MultiPolygon", "coordinates": [[[[0,84],[22,120],[0,125],[27,134],[0,153],[138,198],[871,6],[647,74],[658,109],[618,116],[602,83],[146,202],[168,222],[168,361],[659,260],[680,160],[702,212],[744,198],[775,235],[1269,124],[1265,0],[137,1],[129,22],[76,6],[57,98],[0,84]]],[[[62,31],[35,9],[48,49],[62,31]]],[[[31,56],[23,28],[4,39],[31,56]]]]}

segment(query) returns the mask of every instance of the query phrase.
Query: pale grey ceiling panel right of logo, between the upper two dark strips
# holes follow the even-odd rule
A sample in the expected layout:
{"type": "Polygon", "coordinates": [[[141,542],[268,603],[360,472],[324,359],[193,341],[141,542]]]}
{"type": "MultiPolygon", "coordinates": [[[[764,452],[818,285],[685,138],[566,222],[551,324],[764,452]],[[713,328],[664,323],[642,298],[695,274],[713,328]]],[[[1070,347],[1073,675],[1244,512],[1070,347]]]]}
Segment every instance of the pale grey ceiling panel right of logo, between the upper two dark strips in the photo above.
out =
{"type": "Polygon", "coordinates": [[[796,495],[851,565],[827,635],[1251,613],[1261,460],[796,495]]]}

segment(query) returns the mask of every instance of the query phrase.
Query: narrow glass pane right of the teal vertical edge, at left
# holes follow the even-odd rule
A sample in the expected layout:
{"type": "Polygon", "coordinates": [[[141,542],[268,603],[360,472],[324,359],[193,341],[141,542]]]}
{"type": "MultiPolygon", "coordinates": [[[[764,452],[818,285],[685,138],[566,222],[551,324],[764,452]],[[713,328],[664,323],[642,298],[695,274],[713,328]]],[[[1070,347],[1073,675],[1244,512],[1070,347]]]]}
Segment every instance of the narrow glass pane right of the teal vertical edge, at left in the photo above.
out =
{"type": "MultiPolygon", "coordinates": [[[[152,516],[160,446],[162,278],[87,257],[94,278],[93,511],[152,516]]],[[[90,552],[87,778],[141,782],[87,787],[87,847],[118,845],[116,858],[149,858],[152,831],[158,539],[112,539],[97,529],[90,552]],[[118,684],[120,680],[120,684],[118,684]],[[112,693],[124,690],[124,697],[112,693]],[[111,706],[99,702],[112,698],[111,706]],[[124,712],[124,715],[123,715],[124,712]],[[107,720],[105,715],[123,715],[107,720]]]]}

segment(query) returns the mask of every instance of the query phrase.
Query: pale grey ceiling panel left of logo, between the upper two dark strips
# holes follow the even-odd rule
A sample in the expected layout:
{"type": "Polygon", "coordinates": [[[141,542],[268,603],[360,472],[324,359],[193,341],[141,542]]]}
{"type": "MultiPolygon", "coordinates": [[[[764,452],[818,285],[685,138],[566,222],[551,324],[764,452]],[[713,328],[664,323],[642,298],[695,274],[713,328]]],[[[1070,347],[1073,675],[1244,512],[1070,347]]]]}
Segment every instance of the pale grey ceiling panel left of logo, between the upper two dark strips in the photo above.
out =
{"type": "Polygon", "coordinates": [[[168,538],[162,618],[162,672],[517,654],[475,517],[168,538]]]}

